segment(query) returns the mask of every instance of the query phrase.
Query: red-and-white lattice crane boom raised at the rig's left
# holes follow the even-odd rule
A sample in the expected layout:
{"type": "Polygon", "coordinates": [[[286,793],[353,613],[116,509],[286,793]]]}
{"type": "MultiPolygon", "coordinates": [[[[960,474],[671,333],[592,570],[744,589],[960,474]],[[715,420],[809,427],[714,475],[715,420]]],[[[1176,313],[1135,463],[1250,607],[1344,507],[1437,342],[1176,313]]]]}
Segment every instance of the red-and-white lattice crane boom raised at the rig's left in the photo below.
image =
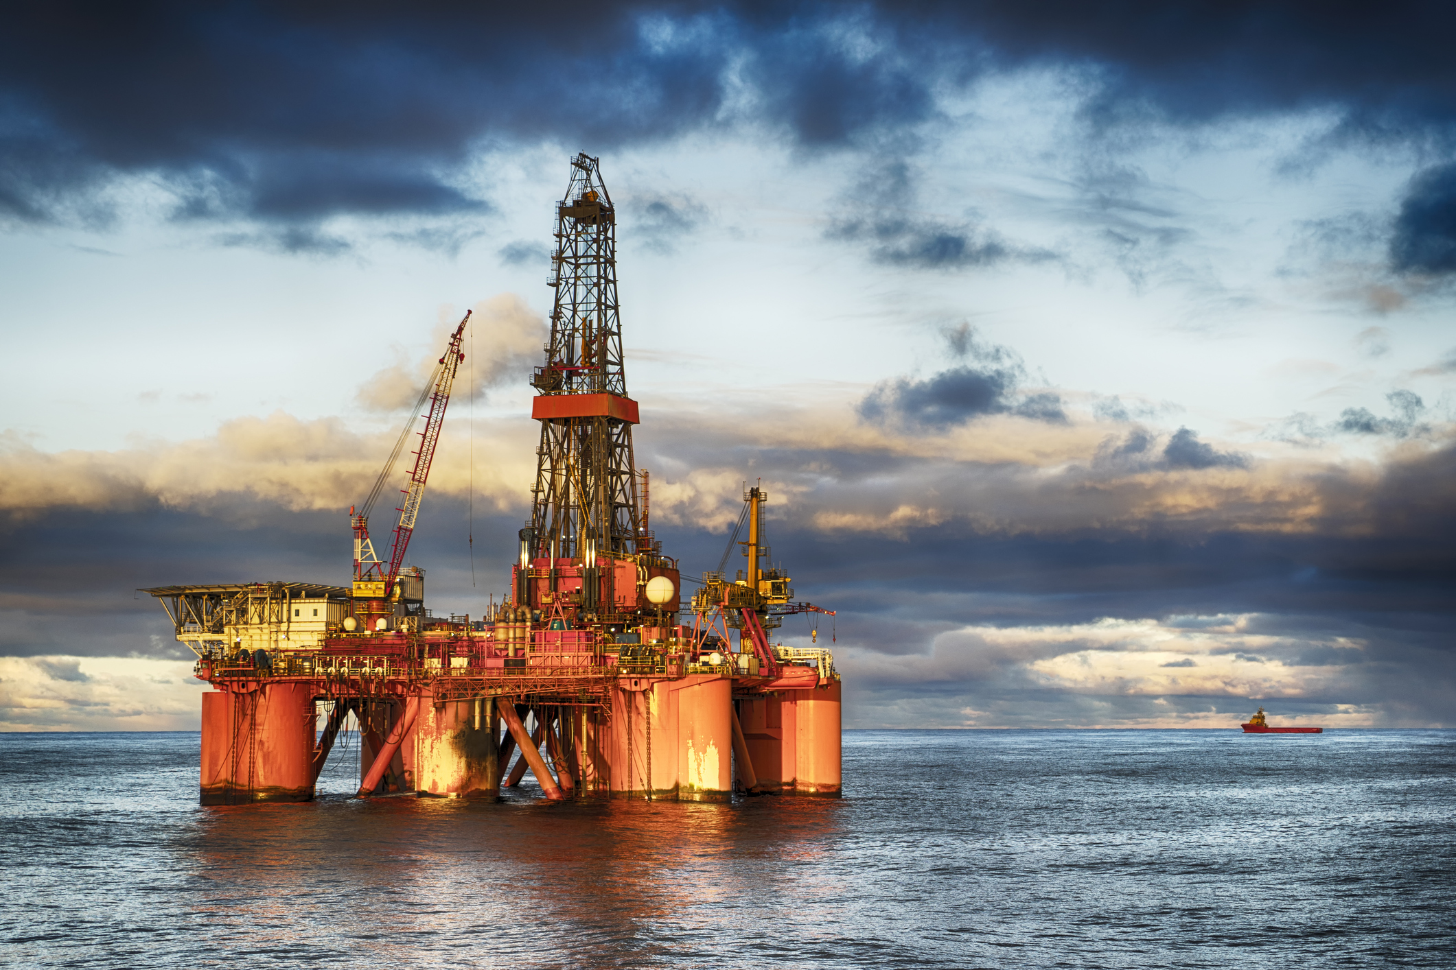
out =
{"type": "MultiPolygon", "coordinates": [[[[395,541],[389,554],[389,564],[386,572],[386,564],[374,554],[374,544],[368,538],[368,513],[374,508],[374,500],[379,497],[380,490],[384,487],[395,470],[395,462],[399,460],[399,454],[405,448],[405,442],[409,441],[409,429],[414,426],[415,419],[411,417],[405,425],[405,429],[399,435],[399,441],[395,442],[395,451],[389,455],[389,461],[384,462],[383,471],[379,473],[379,478],[374,481],[374,487],[370,490],[368,499],[364,502],[364,508],[355,515],[354,509],[349,509],[349,524],[354,528],[354,595],[355,598],[367,596],[368,599],[389,599],[395,590],[395,580],[399,579],[399,567],[405,561],[405,551],[409,548],[409,537],[415,531],[415,519],[419,515],[419,500],[425,494],[425,480],[430,477],[430,462],[435,457],[435,445],[440,442],[440,428],[446,420],[446,406],[450,403],[450,387],[454,384],[456,369],[460,366],[460,361],[464,359],[464,350],[460,349],[460,340],[464,334],[464,324],[470,320],[470,311],[466,310],[464,318],[460,320],[460,326],[456,327],[454,334],[450,337],[450,345],[446,348],[444,355],[435,365],[434,374],[430,377],[430,384],[421,391],[419,400],[415,401],[415,414],[424,407],[425,397],[430,397],[430,412],[425,414],[425,429],[419,432],[419,449],[414,452],[415,467],[409,473],[409,486],[400,490],[405,500],[396,509],[399,512],[399,521],[395,524],[395,541]],[[374,595],[374,589],[361,590],[358,583],[379,583],[383,582],[383,589],[379,595],[374,595]]],[[[376,588],[379,589],[379,588],[376,588]]]]}

